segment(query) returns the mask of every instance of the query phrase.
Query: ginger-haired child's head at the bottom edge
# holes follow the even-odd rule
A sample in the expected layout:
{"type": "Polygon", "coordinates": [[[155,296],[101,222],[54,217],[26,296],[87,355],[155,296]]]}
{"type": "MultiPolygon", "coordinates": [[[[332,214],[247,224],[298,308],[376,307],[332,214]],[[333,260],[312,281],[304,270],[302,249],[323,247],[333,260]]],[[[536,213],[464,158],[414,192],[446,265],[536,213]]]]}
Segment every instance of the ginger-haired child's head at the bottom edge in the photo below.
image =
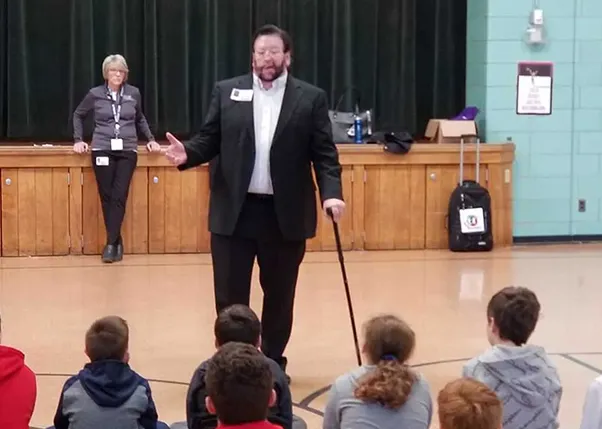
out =
{"type": "Polygon", "coordinates": [[[460,378],[437,397],[441,429],[501,429],[502,403],[485,384],[460,378]]]}

